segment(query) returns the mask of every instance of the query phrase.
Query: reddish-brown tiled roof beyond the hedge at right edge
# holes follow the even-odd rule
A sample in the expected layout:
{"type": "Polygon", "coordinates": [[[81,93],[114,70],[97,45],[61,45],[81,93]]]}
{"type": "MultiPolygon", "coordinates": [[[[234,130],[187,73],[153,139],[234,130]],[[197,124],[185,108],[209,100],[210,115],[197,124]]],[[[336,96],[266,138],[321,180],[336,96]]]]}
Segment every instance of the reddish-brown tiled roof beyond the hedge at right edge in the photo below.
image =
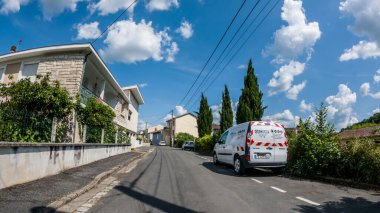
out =
{"type": "Polygon", "coordinates": [[[380,143],[380,125],[358,129],[346,129],[338,134],[338,140],[348,142],[358,138],[365,138],[380,143]]]}

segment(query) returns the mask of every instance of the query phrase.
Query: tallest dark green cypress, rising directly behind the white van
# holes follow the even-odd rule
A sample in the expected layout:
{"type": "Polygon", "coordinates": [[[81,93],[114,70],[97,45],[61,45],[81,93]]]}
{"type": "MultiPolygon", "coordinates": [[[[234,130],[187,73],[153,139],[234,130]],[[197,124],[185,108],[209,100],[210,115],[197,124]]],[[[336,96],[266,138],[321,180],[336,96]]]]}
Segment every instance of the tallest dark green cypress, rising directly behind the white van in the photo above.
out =
{"type": "Polygon", "coordinates": [[[262,106],[262,97],[263,93],[260,91],[252,60],[249,60],[247,75],[244,77],[244,88],[236,112],[236,123],[260,121],[266,108],[262,106]]]}

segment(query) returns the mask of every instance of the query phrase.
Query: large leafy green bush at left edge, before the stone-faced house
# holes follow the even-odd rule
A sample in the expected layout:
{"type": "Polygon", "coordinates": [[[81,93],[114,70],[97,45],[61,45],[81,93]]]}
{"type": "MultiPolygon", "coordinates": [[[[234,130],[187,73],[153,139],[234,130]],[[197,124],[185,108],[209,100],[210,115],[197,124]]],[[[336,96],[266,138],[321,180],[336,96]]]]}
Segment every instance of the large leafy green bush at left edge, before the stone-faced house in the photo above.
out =
{"type": "Polygon", "coordinates": [[[74,104],[66,89],[49,75],[0,84],[0,141],[49,142],[57,118],[57,142],[66,140],[74,104]]]}

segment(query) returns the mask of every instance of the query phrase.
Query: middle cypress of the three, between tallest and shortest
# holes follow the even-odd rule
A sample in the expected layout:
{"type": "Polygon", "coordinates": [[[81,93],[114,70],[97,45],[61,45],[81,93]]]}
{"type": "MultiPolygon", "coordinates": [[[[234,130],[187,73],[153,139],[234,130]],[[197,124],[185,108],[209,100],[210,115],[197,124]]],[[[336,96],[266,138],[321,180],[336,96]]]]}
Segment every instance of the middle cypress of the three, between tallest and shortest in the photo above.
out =
{"type": "Polygon", "coordinates": [[[222,111],[220,114],[220,133],[223,133],[232,126],[233,123],[233,111],[231,106],[230,93],[228,92],[227,85],[224,86],[224,92],[222,93],[222,111]]]}

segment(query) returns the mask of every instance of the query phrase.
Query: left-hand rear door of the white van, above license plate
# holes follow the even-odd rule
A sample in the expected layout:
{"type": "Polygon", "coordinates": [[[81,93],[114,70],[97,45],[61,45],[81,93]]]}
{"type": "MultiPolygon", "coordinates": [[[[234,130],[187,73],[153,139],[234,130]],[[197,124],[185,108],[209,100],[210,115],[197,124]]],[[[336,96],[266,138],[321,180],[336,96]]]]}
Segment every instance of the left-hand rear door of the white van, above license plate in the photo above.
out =
{"type": "Polygon", "coordinates": [[[265,122],[256,122],[251,126],[250,158],[253,163],[273,163],[274,148],[271,126],[265,122]],[[252,140],[253,138],[253,140],[252,140]]]}

